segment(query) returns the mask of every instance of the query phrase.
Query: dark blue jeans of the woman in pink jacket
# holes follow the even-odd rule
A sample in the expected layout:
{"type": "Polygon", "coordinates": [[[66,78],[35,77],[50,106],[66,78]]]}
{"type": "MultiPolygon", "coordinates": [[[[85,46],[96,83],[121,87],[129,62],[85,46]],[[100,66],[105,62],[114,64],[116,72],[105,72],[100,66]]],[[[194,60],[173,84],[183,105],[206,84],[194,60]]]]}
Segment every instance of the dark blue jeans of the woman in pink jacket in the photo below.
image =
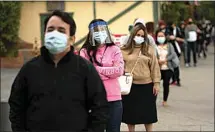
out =
{"type": "Polygon", "coordinates": [[[121,100],[109,102],[109,120],[106,132],[120,132],[122,111],[121,100]]]}

